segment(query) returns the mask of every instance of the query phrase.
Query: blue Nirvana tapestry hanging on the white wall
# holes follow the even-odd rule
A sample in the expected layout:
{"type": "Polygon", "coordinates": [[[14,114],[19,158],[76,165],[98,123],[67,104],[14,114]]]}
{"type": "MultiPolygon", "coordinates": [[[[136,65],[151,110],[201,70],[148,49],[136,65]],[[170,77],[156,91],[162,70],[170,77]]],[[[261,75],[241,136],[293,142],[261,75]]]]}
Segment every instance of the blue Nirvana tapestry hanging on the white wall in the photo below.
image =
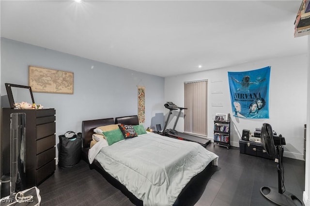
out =
{"type": "Polygon", "coordinates": [[[233,116],[269,118],[270,66],[247,72],[228,72],[233,116]]]}

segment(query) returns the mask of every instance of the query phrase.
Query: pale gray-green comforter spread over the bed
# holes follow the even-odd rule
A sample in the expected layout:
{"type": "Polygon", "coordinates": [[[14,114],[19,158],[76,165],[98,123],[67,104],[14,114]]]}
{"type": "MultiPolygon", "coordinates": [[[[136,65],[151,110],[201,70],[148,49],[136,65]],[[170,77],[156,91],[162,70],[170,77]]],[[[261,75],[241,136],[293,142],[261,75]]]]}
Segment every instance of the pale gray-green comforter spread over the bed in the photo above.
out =
{"type": "Polygon", "coordinates": [[[103,147],[95,159],[143,205],[173,205],[189,180],[218,156],[198,143],[148,133],[103,147]]]}

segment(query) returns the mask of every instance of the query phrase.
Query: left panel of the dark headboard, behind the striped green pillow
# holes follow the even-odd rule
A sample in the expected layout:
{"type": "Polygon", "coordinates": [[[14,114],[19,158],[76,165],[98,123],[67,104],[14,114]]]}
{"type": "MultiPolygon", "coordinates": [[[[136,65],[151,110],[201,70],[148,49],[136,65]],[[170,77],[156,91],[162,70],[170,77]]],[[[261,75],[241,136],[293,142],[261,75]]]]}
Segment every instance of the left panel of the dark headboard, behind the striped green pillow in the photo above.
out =
{"type": "Polygon", "coordinates": [[[93,140],[93,129],[105,126],[109,124],[114,124],[113,118],[105,119],[94,119],[82,121],[82,139],[83,139],[83,148],[89,148],[90,143],[93,140]]]}

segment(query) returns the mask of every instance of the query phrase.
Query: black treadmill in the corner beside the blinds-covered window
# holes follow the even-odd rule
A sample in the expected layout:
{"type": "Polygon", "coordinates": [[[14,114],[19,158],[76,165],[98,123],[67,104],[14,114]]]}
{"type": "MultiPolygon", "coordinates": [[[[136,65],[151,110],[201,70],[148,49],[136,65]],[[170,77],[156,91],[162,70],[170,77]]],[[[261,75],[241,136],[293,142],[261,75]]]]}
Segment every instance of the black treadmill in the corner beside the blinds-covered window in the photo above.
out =
{"type": "Polygon", "coordinates": [[[197,143],[201,144],[203,147],[207,147],[207,145],[210,144],[210,140],[208,140],[208,139],[205,139],[205,138],[202,138],[200,136],[193,135],[193,134],[187,134],[187,133],[184,133],[184,132],[178,132],[178,131],[175,130],[176,124],[178,123],[178,120],[179,120],[179,118],[181,116],[182,110],[183,109],[187,109],[187,108],[179,107],[179,106],[175,105],[172,102],[167,102],[167,103],[164,104],[164,106],[167,109],[169,109],[170,111],[169,111],[169,115],[168,115],[168,118],[167,118],[166,123],[165,123],[164,130],[162,132],[162,135],[169,136],[169,137],[176,138],[176,139],[180,139],[180,140],[197,142],[197,143]],[[172,114],[173,110],[180,110],[180,111],[179,111],[178,117],[176,118],[176,120],[174,122],[173,129],[167,129],[167,125],[168,125],[168,122],[169,122],[169,119],[170,119],[170,115],[172,114]]]}

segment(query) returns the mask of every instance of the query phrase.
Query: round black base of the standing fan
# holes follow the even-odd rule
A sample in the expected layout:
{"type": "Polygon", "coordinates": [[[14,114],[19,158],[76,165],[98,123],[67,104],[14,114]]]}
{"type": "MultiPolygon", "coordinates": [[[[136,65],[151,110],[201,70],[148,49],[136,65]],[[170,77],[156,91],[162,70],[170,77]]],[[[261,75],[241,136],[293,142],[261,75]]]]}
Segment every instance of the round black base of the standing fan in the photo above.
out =
{"type": "Polygon", "coordinates": [[[279,193],[278,188],[261,187],[261,193],[265,198],[279,206],[302,206],[302,202],[294,194],[279,193]]]}

